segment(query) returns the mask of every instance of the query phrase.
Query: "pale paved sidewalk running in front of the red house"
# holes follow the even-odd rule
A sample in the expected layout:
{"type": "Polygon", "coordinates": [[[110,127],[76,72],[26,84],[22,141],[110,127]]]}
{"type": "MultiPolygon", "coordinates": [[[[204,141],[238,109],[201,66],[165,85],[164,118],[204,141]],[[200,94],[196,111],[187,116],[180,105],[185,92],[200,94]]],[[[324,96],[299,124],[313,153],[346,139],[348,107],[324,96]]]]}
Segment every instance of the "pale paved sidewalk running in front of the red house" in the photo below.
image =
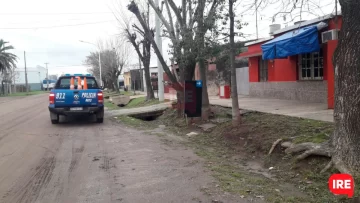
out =
{"type": "MultiPolygon", "coordinates": [[[[174,100],[176,95],[165,94],[166,99],[174,100]]],[[[223,107],[231,107],[231,99],[210,97],[210,104],[223,107]]],[[[278,115],[286,115],[299,118],[314,119],[319,121],[334,122],[332,109],[326,104],[307,103],[293,100],[255,98],[239,95],[239,107],[241,109],[259,111],[278,115]]]]}

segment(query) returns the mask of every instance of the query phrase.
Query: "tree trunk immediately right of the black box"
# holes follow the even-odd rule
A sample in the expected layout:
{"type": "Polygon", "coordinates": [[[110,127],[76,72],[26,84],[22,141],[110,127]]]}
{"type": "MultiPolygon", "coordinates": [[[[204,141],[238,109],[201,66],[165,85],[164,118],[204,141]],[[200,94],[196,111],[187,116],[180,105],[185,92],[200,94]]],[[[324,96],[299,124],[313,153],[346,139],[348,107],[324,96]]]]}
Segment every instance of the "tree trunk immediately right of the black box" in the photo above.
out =
{"type": "MultiPolygon", "coordinates": [[[[205,7],[205,0],[199,0],[199,5],[201,8],[205,7]]],[[[198,54],[198,63],[200,69],[200,78],[202,80],[202,108],[201,108],[201,117],[203,120],[209,120],[210,115],[210,102],[209,96],[207,92],[207,84],[206,84],[206,65],[205,65],[205,57],[204,57],[204,45],[205,45],[205,27],[204,27],[204,10],[199,12],[199,20],[198,20],[198,29],[200,32],[199,41],[199,54],[198,54]]]]}

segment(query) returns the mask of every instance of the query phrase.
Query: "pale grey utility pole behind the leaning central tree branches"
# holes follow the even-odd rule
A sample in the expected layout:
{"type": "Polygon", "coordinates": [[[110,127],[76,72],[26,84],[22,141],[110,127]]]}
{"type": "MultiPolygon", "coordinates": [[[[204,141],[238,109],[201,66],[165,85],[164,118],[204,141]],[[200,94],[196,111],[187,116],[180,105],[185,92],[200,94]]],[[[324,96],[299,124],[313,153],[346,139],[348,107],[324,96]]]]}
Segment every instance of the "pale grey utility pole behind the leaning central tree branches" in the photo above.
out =
{"type": "MultiPolygon", "coordinates": [[[[159,0],[155,0],[155,5],[159,7],[159,0]]],[[[158,15],[155,15],[155,39],[156,39],[156,45],[159,48],[160,54],[162,55],[162,41],[160,37],[160,18],[158,15]]],[[[161,62],[158,59],[157,61],[158,65],[158,97],[159,101],[164,101],[164,83],[163,83],[163,67],[161,66],[161,62]]]]}

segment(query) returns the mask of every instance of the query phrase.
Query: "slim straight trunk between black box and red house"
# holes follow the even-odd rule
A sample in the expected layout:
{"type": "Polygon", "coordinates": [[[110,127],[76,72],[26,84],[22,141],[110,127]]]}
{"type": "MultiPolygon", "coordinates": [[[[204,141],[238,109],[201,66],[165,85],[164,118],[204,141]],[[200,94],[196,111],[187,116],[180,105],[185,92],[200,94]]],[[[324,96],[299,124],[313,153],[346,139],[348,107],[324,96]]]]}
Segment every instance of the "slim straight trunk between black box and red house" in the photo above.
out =
{"type": "Polygon", "coordinates": [[[230,68],[231,68],[231,104],[232,104],[232,124],[237,126],[240,123],[239,100],[236,84],[236,68],[235,68],[235,40],[234,40],[234,0],[229,0],[230,15],[230,68]]]}

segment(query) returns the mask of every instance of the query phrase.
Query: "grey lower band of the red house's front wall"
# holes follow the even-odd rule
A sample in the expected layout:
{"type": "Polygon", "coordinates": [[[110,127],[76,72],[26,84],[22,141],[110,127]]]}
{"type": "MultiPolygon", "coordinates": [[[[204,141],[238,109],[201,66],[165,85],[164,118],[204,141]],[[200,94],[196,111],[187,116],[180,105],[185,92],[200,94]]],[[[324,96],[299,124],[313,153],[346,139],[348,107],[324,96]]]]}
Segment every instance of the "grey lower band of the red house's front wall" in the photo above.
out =
{"type": "Polygon", "coordinates": [[[251,82],[250,96],[327,103],[327,81],[251,82]]]}

